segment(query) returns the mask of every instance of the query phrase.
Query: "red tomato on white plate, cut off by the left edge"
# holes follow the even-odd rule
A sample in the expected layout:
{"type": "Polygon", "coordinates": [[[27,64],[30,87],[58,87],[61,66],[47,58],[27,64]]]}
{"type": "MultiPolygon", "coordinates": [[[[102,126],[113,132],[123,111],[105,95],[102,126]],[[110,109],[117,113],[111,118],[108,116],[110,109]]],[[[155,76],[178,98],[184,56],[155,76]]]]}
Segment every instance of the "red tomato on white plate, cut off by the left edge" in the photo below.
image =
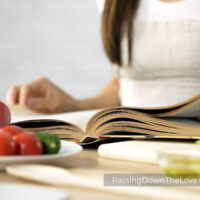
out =
{"type": "Polygon", "coordinates": [[[16,145],[12,137],[4,132],[0,133],[0,155],[15,155],[16,145]]]}

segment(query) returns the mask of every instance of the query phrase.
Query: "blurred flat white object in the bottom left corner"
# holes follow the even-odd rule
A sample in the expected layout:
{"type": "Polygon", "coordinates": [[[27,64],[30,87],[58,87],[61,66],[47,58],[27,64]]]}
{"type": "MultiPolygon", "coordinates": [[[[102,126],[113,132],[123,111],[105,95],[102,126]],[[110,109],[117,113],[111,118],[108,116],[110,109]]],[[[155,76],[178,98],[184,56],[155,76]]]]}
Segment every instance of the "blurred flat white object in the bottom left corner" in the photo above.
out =
{"type": "Polygon", "coordinates": [[[1,200],[67,200],[65,191],[44,186],[0,184],[1,200]]]}

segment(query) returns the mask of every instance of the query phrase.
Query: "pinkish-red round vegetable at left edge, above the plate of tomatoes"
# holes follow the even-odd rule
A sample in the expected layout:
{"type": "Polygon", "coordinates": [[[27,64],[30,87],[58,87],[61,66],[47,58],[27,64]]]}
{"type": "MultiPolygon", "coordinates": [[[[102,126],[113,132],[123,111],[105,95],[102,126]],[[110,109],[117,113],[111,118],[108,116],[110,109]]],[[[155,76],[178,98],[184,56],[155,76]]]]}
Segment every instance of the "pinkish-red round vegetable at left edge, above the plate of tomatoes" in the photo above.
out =
{"type": "Polygon", "coordinates": [[[10,123],[10,110],[8,107],[0,101],[0,128],[10,123]]]}

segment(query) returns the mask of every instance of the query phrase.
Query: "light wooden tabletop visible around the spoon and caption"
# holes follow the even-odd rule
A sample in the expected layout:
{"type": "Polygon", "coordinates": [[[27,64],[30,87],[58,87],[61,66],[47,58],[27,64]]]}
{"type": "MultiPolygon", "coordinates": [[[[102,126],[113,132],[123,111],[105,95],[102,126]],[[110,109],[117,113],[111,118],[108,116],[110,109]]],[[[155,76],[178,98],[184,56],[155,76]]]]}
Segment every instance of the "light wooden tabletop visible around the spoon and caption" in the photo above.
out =
{"type": "MultiPolygon", "coordinates": [[[[143,163],[135,163],[135,162],[126,162],[126,161],[118,161],[111,159],[104,159],[98,156],[96,150],[84,150],[83,152],[68,157],[67,159],[59,159],[54,161],[53,164],[55,166],[66,168],[73,173],[86,175],[88,177],[99,178],[99,180],[103,180],[104,173],[162,173],[161,169],[157,165],[148,165],[143,163]]],[[[31,185],[42,185],[40,183],[31,182],[27,180],[18,179],[12,177],[5,172],[0,172],[0,183],[17,183],[17,184],[31,184],[31,185]]],[[[103,184],[103,181],[102,181],[103,184]]],[[[54,187],[54,186],[49,186],[54,187]]],[[[56,188],[56,187],[54,187],[56,188]]],[[[137,195],[124,195],[124,194],[116,194],[110,192],[103,192],[98,190],[91,189],[83,189],[79,187],[57,187],[63,190],[68,191],[70,195],[70,199],[78,200],[78,199],[92,199],[92,200],[102,200],[102,199],[147,199],[146,197],[137,196],[137,195]]],[[[155,188],[155,187],[154,187],[155,188]]],[[[172,188],[172,187],[171,187],[172,188]]],[[[200,187],[179,187],[179,189],[184,191],[192,191],[194,193],[199,193],[200,195],[200,187]]],[[[159,189],[159,188],[158,188],[159,189]]],[[[173,190],[173,188],[172,188],[173,190]]],[[[150,198],[149,198],[150,199],[150,198]]]]}

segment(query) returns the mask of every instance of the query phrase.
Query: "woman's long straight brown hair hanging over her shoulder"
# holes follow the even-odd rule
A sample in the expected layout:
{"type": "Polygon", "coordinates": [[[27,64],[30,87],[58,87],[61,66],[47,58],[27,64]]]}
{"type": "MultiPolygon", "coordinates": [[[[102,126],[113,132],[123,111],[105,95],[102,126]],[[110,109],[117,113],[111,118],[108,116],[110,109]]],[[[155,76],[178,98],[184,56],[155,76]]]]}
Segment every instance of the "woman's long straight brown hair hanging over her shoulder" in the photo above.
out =
{"type": "Polygon", "coordinates": [[[129,63],[132,50],[132,22],[139,0],[106,0],[102,17],[102,37],[105,52],[112,63],[122,65],[121,39],[126,27],[129,63]]]}

